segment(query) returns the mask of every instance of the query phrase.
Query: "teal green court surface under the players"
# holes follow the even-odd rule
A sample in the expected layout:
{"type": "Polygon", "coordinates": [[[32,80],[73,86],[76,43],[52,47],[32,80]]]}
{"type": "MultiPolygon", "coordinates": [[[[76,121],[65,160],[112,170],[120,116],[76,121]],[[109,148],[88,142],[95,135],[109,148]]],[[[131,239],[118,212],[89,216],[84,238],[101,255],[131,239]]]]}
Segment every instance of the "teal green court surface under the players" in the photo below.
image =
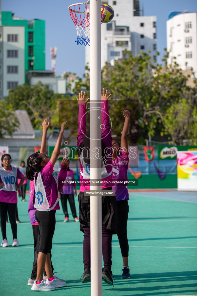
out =
{"type": "MultiPolygon", "coordinates": [[[[123,263],[118,237],[113,235],[112,271],[115,284],[113,287],[103,281],[102,295],[196,295],[197,194],[139,191],[130,192],[129,197],[127,231],[131,279],[120,278],[123,263]]],[[[75,204],[78,211],[77,198],[75,204]]],[[[34,255],[27,208],[28,201],[19,200],[19,247],[12,247],[10,223],[6,225],[11,246],[0,247],[1,296],[29,296],[37,293],[27,286],[34,255]]],[[[80,280],[83,274],[83,233],[79,230],[79,223],[73,221],[69,206],[68,209],[69,223],[63,223],[62,209],[56,211],[52,248],[54,271],[66,280],[67,285],[48,293],[51,296],[89,296],[90,283],[82,284],[80,280]]],[[[39,295],[46,293],[39,292],[39,295]]]]}

